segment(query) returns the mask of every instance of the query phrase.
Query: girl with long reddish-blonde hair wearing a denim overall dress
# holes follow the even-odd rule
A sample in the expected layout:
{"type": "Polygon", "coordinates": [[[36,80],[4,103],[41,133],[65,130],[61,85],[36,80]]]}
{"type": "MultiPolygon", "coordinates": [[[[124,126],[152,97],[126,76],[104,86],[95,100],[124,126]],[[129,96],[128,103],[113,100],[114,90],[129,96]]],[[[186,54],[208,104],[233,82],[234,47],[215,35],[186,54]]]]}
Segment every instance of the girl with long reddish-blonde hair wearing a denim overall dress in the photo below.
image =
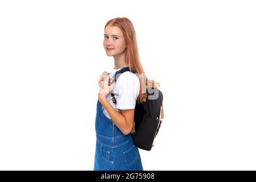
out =
{"type": "Polygon", "coordinates": [[[114,57],[114,69],[111,73],[103,72],[98,81],[94,170],[142,171],[141,156],[134,146],[131,130],[135,104],[146,98],[143,79],[153,80],[144,76],[134,26],[129,19],[114,18],[106,23],[103,46],[106,54],[114,57]],[[114,75],[125,67],[130,71],[110,84],[114,75]]]}

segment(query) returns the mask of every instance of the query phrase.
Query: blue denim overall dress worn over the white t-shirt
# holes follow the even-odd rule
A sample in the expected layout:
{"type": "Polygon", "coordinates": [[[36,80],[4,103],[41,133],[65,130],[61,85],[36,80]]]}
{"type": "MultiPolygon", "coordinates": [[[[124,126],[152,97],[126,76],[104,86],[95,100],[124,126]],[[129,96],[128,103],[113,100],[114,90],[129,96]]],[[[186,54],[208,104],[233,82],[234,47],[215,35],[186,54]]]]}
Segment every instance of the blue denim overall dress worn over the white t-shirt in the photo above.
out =
{"type": "Polygon", "coordinates": [[[101,106],[97,101],[94,171],[143,171],[141,156],[131,133],[124,135],[102,112],[101,106]]]}

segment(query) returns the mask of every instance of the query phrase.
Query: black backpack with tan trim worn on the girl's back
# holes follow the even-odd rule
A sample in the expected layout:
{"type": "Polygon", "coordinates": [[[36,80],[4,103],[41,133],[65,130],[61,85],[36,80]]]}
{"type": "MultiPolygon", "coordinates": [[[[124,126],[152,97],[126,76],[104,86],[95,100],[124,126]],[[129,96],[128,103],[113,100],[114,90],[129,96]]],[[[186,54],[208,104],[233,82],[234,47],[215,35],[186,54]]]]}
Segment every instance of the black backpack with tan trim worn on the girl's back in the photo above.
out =
{"type": "MultiPolygon", "coordinates": [[[[113,81],[126,71],[130,71],[129,67],[124,67],[117,71],[113,81]]],[[[135,72],[133,72],[135,73],[135,72]]],[[[142,150],[150,151],[154,146],[154,139],[158,134],[163,118],[163,93],[158,88],[147,88],[146,101],[139,104],[136,102],[134,110],[135,127],[131,132],[134,145],[142,150]],[[160,114],[162,114],[160,116],[160,114]]],[[[113,102],[116,103],[114,94],[112,94],[113,102]]]]}

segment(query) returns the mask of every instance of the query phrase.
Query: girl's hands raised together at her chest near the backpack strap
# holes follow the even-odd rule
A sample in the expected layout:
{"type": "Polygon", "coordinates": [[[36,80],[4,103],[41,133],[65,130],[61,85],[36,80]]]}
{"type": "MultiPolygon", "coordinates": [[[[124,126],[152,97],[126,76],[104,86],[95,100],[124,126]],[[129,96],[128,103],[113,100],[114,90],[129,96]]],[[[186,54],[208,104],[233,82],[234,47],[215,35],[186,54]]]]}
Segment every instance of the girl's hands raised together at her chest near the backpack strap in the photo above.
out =
{"type": "Polygon", "coordinates": [[[115,86],[115,82],[109,85],[114,78],[108,76],[107,74],[109,75],[109,73],[103,72],[102,75],[100,76],[100,80],[99,80],[100,90],[98,92],[99,100],[106,98],[115,86]]]}

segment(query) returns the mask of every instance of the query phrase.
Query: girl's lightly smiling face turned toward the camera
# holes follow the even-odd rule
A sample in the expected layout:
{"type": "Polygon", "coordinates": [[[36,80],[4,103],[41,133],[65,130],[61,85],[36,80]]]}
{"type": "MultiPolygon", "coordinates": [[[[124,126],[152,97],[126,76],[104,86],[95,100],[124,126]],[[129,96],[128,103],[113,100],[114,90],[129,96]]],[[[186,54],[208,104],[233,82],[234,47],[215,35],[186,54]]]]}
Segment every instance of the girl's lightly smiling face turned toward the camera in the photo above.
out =
{"type": "Polygon", "coordinates": [[[103,46],[108,56],[115,56],[126,50],[122,31],[116,26],[106,26],[103,46]]]}

